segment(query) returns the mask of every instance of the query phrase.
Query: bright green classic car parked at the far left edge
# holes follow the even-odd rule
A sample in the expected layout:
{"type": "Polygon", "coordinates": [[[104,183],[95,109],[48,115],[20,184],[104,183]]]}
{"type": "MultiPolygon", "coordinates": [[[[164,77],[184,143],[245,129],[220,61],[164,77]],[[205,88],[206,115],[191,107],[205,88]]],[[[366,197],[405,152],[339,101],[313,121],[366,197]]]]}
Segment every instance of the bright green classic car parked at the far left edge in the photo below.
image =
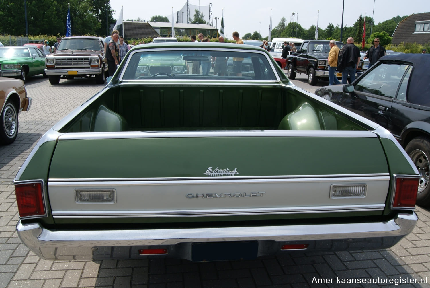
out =
{"type": "Polygon", "coordinates": [[[28,76],[45,74],[45,55],[36,46],[0,47],[1,77],[18,77],[24,83],[28,76]]]}

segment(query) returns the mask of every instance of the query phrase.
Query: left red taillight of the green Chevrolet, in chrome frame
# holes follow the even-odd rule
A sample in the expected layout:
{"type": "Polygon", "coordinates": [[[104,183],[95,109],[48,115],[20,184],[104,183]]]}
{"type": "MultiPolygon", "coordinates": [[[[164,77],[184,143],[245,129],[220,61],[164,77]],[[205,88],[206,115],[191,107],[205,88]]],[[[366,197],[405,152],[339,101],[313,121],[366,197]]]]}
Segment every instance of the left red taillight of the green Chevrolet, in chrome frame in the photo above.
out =
{"type": "Polygon", "coordinates": [[[15,195],[19,217],[45,215],[42,183],[15,184],[15,195]]]}

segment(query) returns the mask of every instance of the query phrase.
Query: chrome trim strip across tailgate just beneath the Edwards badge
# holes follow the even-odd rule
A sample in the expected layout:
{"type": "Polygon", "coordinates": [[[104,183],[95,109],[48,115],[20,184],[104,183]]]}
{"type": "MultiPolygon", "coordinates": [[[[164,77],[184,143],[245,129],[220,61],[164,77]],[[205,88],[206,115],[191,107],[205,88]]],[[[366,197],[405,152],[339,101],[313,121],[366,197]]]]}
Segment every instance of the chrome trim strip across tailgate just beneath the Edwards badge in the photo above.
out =
{"type": "MultiPolygon", "coordinates": [[[[223,177],[148,177],[148,178],[49,178],[49,185],[52,186],[70,186],[72,184],[76,184],[76,182],[83,182],[85,185],[88,185],[89,182],[103,182],[103,185],[111,184],[126,184],[133,185],[136,183],[129,183],[130,181],[155,181],[154,183],[158,183],[160,181],[166,180],[174,180],[178,181],[177,184],[182,184],[184,181],[187,181],[185,184],[192,183],[191,180],[198,180],[196,184],[203,183],[219,183],[220,180],[228,183],[266,183],[266,182],[303,182],[303,181],[379,181],[379,180],[390,180],[390,173],[375,173],[375,174],[321,174],[321,175],[279,175],[279,176],[223,176],[223,177]],[[215,178],[215,179],[214,179],[215,178]],[[322,179],[327,178],[327,179],[322,179]]],[[[137,183],[137,184],[144,184],[137,183]]],[[[165,182],[165,183],[176,183],[176,182],[165,182]]],[[[99,183],[92,183],[91,185],[98,185],[99,183]]],[[[164,183],[162,183],[163,185],[164,183]]]]}

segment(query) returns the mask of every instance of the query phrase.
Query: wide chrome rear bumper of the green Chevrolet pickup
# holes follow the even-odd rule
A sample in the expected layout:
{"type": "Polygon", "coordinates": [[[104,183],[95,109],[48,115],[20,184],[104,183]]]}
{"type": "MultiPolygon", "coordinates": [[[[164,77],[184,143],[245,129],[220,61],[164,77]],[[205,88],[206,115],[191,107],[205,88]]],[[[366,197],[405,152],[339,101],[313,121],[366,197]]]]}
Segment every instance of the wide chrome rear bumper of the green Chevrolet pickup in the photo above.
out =
{"type": "MultiPolygon", "coordinates": [[[[140,249],[167,249],[161,257],[192,260],[191,245],[207,242],[258,242],[258,256],[282,253],[282,245],[306,244],[306,251],[389,248],[412,232],[418,217],[398,214],[387,222],[250,226],[190,229],[50,231],[18,222],[22,242],[49,260],[142,258],[140,249]]],[[[291,250],[289,250],[291,251],[291,250]]],[[[158,257],[160,257],[158,256],[158,257]]]]}

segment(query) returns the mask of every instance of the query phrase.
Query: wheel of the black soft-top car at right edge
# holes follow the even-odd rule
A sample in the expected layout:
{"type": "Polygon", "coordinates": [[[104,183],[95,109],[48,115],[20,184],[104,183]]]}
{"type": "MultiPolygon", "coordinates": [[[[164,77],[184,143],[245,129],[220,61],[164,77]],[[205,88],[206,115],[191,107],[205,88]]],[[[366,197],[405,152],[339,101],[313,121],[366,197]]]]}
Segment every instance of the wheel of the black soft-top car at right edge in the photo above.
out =
{"type": "Polygon", "coordinates": [[[417,204],[420,206],[430,205],[430,138],[416,137],[406,145],[406,153],[414,162],[420,174],[418,183],[417,204]]]}

